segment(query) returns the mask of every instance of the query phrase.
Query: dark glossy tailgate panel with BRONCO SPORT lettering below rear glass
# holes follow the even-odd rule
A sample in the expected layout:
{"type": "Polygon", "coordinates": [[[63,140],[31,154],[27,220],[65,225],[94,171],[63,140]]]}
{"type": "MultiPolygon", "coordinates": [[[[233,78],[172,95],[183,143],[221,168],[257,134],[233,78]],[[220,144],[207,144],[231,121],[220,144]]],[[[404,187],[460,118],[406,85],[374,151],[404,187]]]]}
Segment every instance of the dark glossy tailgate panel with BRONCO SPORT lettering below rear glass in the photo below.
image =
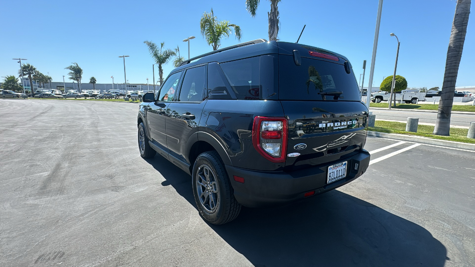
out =
{"type": "Polygon", "coordinates": [[[281,101],[288,119],[285,169],[338,161],[363,148],[368,109],[356,101],[281,101]]]}

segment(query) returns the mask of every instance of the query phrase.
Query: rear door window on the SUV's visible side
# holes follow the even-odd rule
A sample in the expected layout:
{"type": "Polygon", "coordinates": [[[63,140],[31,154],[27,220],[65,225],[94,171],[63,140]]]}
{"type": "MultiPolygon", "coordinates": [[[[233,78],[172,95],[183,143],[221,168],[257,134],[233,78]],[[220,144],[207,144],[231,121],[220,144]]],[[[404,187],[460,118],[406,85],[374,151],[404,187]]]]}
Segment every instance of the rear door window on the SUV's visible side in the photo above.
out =
{"type": "Polygon", "coordinates": [[[186,70],[181,84],[179,101],[203,101],[205,66],[186,70]]]}

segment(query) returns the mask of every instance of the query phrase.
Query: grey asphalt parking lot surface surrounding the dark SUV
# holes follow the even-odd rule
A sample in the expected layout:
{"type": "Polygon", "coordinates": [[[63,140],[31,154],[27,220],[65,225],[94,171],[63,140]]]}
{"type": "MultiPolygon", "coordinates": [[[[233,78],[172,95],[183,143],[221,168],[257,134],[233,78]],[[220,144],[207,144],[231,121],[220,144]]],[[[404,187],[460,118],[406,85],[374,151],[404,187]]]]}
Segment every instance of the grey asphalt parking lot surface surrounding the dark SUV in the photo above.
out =
{"type": "Polygon", "coordinates": [[[213,226],[137,111],[0,100],[0,266],[475,266],[474,152],[368,137],[361,178],[213,226]]]}

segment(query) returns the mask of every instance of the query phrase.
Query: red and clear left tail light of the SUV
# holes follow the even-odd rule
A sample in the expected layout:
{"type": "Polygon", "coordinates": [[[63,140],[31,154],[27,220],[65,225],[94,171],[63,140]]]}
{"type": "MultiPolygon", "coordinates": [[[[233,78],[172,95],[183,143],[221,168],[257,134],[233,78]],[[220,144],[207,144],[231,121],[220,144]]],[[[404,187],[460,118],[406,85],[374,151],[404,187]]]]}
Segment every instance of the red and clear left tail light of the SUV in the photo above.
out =
{"type": "Polygon", "coordinates": [[[255,117],[252,143],[262,156],[271,162],[285,162],[287,150],[287,119],[255,117]]]}

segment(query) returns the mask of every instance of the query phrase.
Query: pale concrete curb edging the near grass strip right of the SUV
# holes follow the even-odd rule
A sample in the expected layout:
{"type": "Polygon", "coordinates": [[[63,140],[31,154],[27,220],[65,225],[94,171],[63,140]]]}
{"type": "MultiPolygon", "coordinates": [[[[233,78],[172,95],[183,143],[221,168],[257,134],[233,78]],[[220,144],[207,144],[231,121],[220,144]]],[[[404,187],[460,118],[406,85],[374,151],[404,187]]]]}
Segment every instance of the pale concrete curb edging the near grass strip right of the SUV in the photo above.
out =
{"type": "Polygon", "coordinates": [[[391,138],[391,139],[396,139],[396,140],[401,140],[401,141],[454,147],[454,148],[460,148],[460,149],[466,149],[466,150],[473,150],[475,152],[475,144],[473,143],[462,143],[462,142],[454,142],[454,141],[447,141],[447,140],[440,140],[440,139],[432,139],[432,138],[427,138],[423,136],[405,135],[405,134],[387,134],[387,133],[372,132],[372,131],[368,131],[368,136],[391,138]]]}

